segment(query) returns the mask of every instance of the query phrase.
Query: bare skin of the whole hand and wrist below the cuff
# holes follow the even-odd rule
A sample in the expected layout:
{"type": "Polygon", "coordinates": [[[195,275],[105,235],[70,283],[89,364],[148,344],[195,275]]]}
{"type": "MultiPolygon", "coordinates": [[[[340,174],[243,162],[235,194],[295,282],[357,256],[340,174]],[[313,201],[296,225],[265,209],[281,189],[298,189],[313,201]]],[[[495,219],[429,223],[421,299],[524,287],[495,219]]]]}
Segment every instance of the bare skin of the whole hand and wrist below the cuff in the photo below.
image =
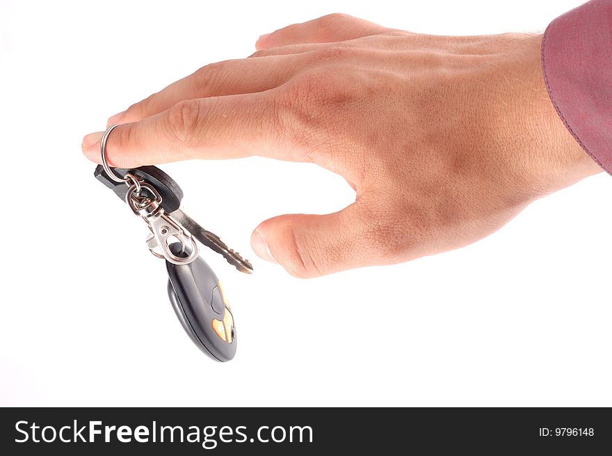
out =
{"type": "MultiPolygon", "coordinates": [[[[114,166],[261,155],[344,176],[355,203],[262,222],[252,247],[308,278],[490,235],[601,171],[557,116],[539,34],[429,36],[328,15],[261,36],[108,120],[114,166]]],[[[99,162],[102,132],[83,139],[99,162]]]]}

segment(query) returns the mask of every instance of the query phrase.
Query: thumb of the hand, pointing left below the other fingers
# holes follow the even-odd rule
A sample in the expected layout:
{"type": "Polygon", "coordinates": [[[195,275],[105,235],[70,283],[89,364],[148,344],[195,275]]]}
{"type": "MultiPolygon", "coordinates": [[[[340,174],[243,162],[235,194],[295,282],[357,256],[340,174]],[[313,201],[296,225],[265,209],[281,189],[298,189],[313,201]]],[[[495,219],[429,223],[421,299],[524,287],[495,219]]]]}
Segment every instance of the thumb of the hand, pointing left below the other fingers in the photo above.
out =
{"type": "Polygon", "coordinates": [[[312,278],[370,264],[356,203],[327,215],[287,214],[262,222],[251,245],[292,276],[312,278]]]}

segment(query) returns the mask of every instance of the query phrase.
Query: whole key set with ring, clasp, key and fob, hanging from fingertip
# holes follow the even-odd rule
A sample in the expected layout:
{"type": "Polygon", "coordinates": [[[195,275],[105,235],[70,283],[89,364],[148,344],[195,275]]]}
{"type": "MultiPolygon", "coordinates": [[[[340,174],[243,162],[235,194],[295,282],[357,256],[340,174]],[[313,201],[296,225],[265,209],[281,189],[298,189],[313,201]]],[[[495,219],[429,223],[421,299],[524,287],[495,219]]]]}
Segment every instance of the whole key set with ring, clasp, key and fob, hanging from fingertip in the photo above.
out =
{"type": "Polygon", "coordinates": [[[236,354],[234,316],[196,241],[223,255],[240,272],[250,274],[252,265],[182,210],[183,191],[161,169],[108,166],[106,140],[116,126],[108,127],[102,136],[102,165],[96,167],[94,176],[147,223],[147,247],[157,258],[166,260],[168,297],[193,343],[216,361],[230,361],[236,354]]]}

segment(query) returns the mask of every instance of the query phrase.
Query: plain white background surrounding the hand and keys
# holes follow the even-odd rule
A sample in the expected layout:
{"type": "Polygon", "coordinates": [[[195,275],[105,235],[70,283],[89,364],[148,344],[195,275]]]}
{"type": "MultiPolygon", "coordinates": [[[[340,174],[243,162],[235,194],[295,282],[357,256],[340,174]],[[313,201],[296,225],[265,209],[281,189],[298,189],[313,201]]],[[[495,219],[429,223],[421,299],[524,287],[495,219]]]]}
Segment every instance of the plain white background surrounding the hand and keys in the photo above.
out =
{"type": "Polygon", "coordinates": [[[579,3],[1,0],[0,404],[611,406],[608,175],[465,249],[302,281],[255,258],[250,233],[339,210],[344,180],[260,158],[163,166],[192,215],[255,265],[246,276],[204,252],[239,332],[221,364],[184,333],[145,224],[80,150],[108,116],[293,22],[542,31],[579,3]]]}

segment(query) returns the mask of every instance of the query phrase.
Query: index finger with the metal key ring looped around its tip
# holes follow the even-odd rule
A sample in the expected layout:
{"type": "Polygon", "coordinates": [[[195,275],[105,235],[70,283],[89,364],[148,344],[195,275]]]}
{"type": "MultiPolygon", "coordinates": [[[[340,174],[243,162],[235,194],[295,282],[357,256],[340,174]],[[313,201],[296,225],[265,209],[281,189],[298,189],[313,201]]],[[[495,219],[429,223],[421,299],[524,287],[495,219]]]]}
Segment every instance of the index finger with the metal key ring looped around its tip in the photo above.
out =
{"type": "MultiPolygon", "coordinates": [[[[309,162],[293,144],[273,91],[179,102],[139,122],[118,125],[108,136],[111,166],[133,168],[186,159],[259,155],[309,162]]],[[[99,163],[103,132],[83,139],[83,153],[99,163]]]]}

